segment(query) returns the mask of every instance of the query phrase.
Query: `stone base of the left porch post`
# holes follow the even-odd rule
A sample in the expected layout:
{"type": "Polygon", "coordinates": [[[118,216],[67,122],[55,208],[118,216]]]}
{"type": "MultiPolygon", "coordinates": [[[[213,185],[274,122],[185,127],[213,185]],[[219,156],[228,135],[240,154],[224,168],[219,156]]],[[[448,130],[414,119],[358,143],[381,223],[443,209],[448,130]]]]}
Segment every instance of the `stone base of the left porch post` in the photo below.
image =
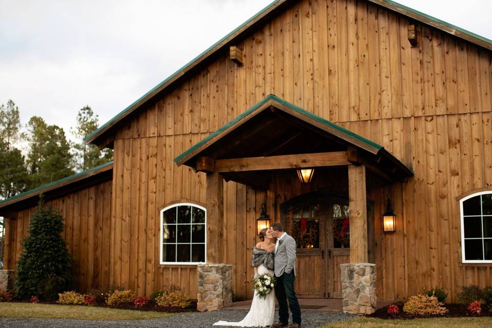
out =
{"type": "Polygon", "coordinates": [[[232,304],[232,265],[199,264],[196,309],[200,312],[227,308],[232,304]]]}

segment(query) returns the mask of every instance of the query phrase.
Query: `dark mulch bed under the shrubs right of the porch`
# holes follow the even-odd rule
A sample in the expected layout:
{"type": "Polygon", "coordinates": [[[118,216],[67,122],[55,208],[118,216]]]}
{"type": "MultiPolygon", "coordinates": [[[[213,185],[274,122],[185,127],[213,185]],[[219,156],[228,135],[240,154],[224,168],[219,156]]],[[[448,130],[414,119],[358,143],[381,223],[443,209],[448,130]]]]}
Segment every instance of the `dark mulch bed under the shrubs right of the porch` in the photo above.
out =
{"type": "Polygon", "coordinates": [[[444,304],[445,308],[448,310],[445,314],[438,315],[417,315],[417,314],[409,314],[403,312],[403,303],[395,303],[400,310],[398,314],[388,314],[388,306],[384,306],[384,308],[376,310],[373,314],[367,315],[370,318],[378,318],[378,319],[419,319],[419,318],[456,318],[456,317],[491,317],[492,312],[487,309],[487,305],[482,304],[482,313],[480,315],[471,314],[468,311],[468,306],[463,304],[444,304]]]}

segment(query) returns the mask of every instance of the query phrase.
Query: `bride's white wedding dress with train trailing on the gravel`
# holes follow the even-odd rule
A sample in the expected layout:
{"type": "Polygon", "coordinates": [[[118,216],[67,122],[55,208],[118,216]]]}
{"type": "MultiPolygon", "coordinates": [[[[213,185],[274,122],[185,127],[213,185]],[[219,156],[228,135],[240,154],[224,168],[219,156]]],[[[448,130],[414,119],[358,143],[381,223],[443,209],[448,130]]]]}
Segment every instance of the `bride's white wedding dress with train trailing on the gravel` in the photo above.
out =
{"type": "MultiPolygon", "coordinates": [[[[262,249],[257,249],[255,247],[254,253],[266,253],[266,257],[271,257],[273,259],[273,252],[269,253],[262,249]]],[[[253,255],[254,258],[255,255],[253,255]]],[[[253,259],[255,262],[255,259],[253,259]]],[[[264,260],[267,263],[267,259],[264,260]]],[[[273,262],[273,261],[272,261],[273,262]]],[[[268,263],[270,264],[270,263],[268,263]]],[[[270,265],[269,265],[270,266],[270,265]]],[[[260,263],[257,265],[258,275],[269,274],[274,276],[273,270],[265,267],[265,264],[260,263]]],[[[268,294],[264,299],[256,294],[253,296],[253,301],[251,302],[250,312],[239,322],[227,322],[219,321],[214,323],[214,326],[235,326],[235,327],[265,327],[273,324],[275,317],[275,288],[268,294]]]]}

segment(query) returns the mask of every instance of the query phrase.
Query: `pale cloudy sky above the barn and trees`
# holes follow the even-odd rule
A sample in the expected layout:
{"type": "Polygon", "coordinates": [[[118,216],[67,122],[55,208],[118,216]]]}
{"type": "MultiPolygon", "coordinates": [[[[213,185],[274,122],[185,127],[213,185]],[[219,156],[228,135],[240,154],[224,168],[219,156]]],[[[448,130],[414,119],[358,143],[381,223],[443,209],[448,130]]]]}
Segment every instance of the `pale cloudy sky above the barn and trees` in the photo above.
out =
{"type": "MultiPolygon", "coordinates": [[[[103,124],[271,0],[0,0],[0,104],[68,133],[89,105],[103,124]]],[[[489,0],[400,0],[492,39],[489,0]]]]}

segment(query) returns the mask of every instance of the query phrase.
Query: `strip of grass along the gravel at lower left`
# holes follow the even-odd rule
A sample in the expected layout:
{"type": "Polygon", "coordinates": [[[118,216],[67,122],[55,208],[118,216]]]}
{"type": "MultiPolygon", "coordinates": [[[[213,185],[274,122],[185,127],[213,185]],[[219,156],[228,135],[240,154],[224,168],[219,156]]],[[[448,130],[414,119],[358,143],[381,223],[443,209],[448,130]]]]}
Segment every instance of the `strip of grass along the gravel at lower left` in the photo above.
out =
{"type": "Polygon", "coordinates": [[[165,318],[172,315],[172,313],[165,312],[120,310],[83,305],[0,303],[0,317],[4,318],[132,320],[165,318]]]}

